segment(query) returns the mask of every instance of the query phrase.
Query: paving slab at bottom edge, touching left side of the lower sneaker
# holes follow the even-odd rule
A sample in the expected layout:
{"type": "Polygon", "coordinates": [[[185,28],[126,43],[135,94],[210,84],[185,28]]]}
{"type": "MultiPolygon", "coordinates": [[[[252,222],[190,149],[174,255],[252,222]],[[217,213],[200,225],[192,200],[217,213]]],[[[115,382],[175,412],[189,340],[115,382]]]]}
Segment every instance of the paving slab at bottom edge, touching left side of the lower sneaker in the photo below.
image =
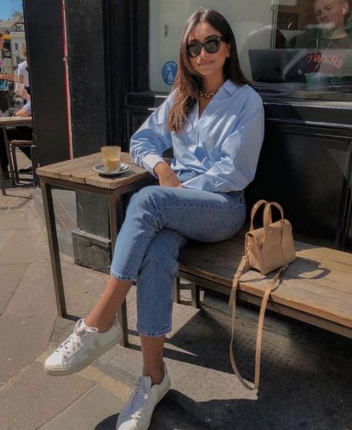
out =
{"type": "Polygon", "coordinates": [[[95,429],[107,417],[113,417],[115,421],[113,430],[115,430],[117,414],[124,404],[124,400],[110,391],[103,387],[96,387],[39,428],[41,430],[95,429]]]}

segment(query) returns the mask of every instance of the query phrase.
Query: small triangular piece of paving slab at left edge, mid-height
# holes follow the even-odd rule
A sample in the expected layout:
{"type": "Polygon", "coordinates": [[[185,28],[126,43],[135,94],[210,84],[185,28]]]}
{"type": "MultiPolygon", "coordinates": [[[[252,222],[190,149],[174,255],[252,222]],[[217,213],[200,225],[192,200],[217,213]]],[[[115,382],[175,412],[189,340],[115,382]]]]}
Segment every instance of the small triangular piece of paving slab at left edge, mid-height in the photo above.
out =
{"type": "Polygon", "coordinates": [[[0,264],[0,316],[29,266],[28,263],[0,264]]]}

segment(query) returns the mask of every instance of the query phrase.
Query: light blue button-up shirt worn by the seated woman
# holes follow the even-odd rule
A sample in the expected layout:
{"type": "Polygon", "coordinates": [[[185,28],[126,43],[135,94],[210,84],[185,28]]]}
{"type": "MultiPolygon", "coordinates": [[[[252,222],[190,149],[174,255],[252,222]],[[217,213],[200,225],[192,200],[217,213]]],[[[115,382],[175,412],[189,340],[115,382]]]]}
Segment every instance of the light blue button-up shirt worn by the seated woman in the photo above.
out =
{"type": "Polygon", "coordinates": [[[172,147],[174,172],[193,171],[182,186],[212,192],[243,190],[254,178],[264,137],[260,95],[227,80],[199,117],[196,102],[184,131],[167,129],[174,92],[131,138],[132,160],[154,175],[162,153],[172,147]]]}

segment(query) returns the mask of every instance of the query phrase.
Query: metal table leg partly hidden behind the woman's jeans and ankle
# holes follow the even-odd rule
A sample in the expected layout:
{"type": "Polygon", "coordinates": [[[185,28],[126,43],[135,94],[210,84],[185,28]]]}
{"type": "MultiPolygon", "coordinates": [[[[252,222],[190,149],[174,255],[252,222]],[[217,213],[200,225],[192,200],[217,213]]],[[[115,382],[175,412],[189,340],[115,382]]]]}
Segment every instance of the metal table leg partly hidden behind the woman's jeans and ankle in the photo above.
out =
{"type": "MultiPolygon", "coordinates": [[[[111,251],[115,249],[117,231],[122,224],[122,198],[116,197],[113,193],[108,196],[108,206],[109,206],[109,225],[110,225],[110,237],[111,237],[111,251]],[[118,209],[116,208],[118,205],[118,209]]],[[[117,311],[117,318],[122,329],[122,340],[120,345],[126,347],[129,344],[129,335],[127,327],[127,306],[124,300],[119,310],[117,311]]]]}

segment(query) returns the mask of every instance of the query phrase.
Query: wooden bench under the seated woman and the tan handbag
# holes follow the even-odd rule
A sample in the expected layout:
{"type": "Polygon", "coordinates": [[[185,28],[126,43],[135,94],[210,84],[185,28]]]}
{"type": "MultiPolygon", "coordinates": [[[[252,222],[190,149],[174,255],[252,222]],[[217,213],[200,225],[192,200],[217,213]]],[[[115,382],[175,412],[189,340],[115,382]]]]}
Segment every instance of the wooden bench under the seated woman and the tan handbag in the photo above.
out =
{"type": "MultiPolygon", "coordinates": [[[[267,308],[352,338],[352,254],[301,242],[295,246],[297,259],[281,277],[267,308]]],[[[243,248],[244,238],[238,236],[218,243],[187,243],[178,258],[178,276],[192,283],[193,306],[199,307],[200,286],[230,295],[243,248]]],[[[260,305],[266,279],[274,275],[245,270],[237,298],[260,305]]]]}

